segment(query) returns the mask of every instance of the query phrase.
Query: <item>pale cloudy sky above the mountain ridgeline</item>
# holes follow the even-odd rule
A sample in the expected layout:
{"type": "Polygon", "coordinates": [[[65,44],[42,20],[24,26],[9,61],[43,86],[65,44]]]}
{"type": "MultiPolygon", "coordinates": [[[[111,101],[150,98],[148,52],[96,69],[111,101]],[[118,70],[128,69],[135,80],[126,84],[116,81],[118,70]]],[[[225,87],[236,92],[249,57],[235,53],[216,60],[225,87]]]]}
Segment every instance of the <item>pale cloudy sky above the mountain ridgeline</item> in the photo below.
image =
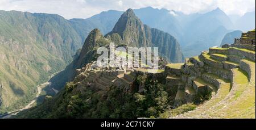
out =
{"type": "Polygon", "coordinates": [[[206,12],[217,7],[226,14],[255,11],[255,0],[0,0],[0,10],[59,14],[64,18],[88,18],[107,10],[139,9],[151,6],[185,14],[206,12]]]}

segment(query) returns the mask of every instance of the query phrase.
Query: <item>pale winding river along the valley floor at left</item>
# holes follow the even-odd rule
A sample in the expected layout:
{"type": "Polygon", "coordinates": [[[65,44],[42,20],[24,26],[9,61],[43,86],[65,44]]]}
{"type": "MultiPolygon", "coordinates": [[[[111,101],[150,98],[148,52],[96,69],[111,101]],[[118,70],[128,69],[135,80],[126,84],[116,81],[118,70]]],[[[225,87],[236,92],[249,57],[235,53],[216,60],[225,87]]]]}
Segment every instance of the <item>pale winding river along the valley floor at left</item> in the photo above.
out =
{"type": "MultiPolygon", "coordinates": [[[[11,111],[11,112],[8,112],[7,114],[0,115],[0,119],[8,119],[8,118],[11,118],[11,116],[18,114],[20,111],[27,110],[27,109],[31,108],[31,107],[32,107],[32,104],[34,104],[34,103],[36,102],[36,100],[38,99],[39,95],[42,93],[43,88],[50,84],[49,80],[50,80],[53,76],[55,76],[56,74],[60,73],[61,71],[63,71],[63,70],[60,70],[59,72],[56,72],[56,73],[52,74],[51,76],[49,76],[49,79],[48,79],[47,82],[42,83],[41,85],[36,86],[36,88],[37,88],[38,90],[37,90],[35,99],[34,99],[34,100],[31,100],[31,102],[28,103],[27,106],[25,106],[25,107],[23,107],[23,108],[21,108],[21,109],[19,109],[19,110],[16,110],[16,111],[11,111]]],[[[54,89],[54,88],[51,88],[51,89],[52,89],[53,91],[55,91],[56,94],[59,92],[58,90],[56,90],[56,89],[54,89]]]]}

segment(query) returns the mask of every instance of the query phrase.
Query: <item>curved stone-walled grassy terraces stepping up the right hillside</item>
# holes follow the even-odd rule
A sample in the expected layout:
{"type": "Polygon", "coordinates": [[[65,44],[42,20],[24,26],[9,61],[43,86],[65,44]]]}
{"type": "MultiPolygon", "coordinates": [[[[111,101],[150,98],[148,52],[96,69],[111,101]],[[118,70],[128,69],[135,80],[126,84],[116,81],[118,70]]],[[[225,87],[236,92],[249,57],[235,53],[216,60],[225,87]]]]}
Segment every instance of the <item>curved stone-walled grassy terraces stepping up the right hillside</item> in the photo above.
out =
{"type": "MultiPolygon", "coordinates": [[[[187,86],[191,81],[195,93],[201,87],[215,93],[196,110],[170,118],[255,118],[255,45],[210,48],[198,58],[186,60],[184,68],[193,69],[202,64],[201,73],[194,77],[188,69],[181,70],[181,77],[187,77],[185,91],[189,91],[187,86]]],[[[183,90],[177,94],[179,99],[184,97],[183,90]]]]}

